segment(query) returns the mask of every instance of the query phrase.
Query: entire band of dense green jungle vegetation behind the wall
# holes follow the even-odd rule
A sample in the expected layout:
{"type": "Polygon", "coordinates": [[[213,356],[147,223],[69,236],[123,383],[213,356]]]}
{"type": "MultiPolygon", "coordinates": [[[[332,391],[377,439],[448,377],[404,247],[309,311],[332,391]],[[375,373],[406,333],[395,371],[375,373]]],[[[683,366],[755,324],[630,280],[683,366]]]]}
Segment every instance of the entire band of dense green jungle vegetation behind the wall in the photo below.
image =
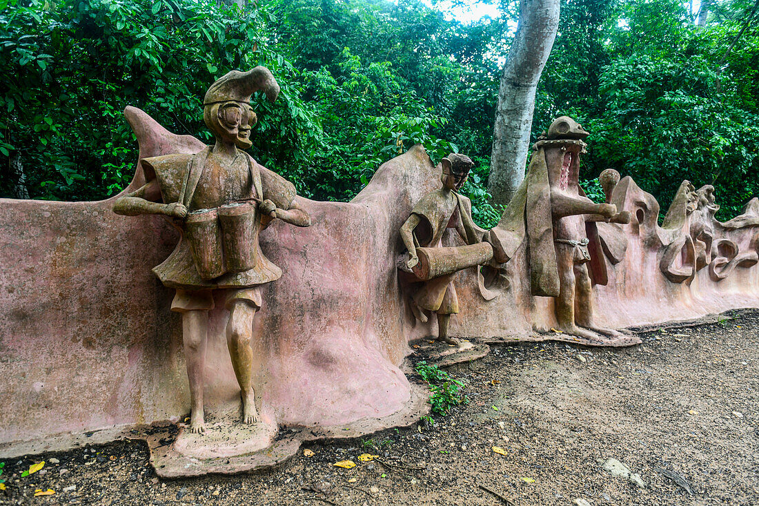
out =
{"type": "MultiPolygon", "coordinates": [[[[612,167],[669,206],[682,179],[713,184],[723,219],[759,195],[759,0],[562,0],[533,138],[553,117],[591,131],[581,178],[612,167]],[[708,11],[708,13],[707,13],[708,11]]],[[[310,198],[345,201],[420,142],[477,163],[487,204],[494,107],[518,4],[473,24],[423,2],[0,0],[0,196],[106,198],[128,185],[140,107],[209,139],[201,100],[217,77],[266,65],[251,154],[310,198]]]]}

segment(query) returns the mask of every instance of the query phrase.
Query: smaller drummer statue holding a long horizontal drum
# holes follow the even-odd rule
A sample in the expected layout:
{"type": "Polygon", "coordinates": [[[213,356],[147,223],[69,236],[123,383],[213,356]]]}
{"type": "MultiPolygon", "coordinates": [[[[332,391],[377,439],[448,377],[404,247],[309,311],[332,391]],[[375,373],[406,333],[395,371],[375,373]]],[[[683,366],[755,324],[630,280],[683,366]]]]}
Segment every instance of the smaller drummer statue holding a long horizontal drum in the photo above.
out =
{"type": "MultiPolygon", "coordinates": [[[[411,311],[423,323],[428,320],[426,312],[435,314],[437,339],[455,346],[461,341],[448,332],[451,315],[458,313],[455,274],[468,267],[492,264],[493,260],[493,245],[483,242],[487,231],[474,224],[471,201],[458,193],[473,165],[469,157],[458,153],[443,158],[439,164],[442,188],[424,195],[401,227],[408,253],[402,255],[398,268],[422,282],[411,296],[411,311]],[[443,247],[446,229],[455,229],[466,245],[443,247]]],[[[478,277],[480,293],[492,299],[482,286],[481,274],[478,277]]]]}

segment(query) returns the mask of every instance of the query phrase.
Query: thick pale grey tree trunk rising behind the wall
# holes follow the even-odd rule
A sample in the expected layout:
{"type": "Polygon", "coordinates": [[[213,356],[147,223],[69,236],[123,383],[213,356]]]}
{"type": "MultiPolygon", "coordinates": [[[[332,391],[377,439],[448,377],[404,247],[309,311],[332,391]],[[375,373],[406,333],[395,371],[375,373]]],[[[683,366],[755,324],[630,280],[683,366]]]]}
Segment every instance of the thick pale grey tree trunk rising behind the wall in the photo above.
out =
{"type": "Polygon", "coordinates": [[[488,190],[508,204],[524,179],[535,90],[556,39],[559,0],[521,0],[519,24],[498,91],[488,190]]]}

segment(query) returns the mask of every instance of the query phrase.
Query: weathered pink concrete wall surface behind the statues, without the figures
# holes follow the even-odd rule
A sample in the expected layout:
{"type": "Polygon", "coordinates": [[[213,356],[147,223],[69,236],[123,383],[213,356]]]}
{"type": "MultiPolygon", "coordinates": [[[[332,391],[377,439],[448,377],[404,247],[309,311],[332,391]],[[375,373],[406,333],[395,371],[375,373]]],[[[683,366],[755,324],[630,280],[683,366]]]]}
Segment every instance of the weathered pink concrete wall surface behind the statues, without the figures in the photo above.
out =
{"type": "MultiPolygon", "coordinates": [[[[139,136],[139,134],[138,134],[139,136]]],[[[168,132],[141,157],[202,144],[168,132]],[[179,140],[179,141],[178,141],[179,140]],[[181,141],[181,142],[180,142],[181,141]]],[[[135,182],[144,181],[140,166],[135,182]]],[[[299,203],[313,226],[275,222],[262,236],[282,267],[266,286],[254,327],[258,390],[287,425],[337,425],[401,410],[409,384],[398,368],[408,341],[435,334],[414,323],[395,261],[412,204],[439,185],[420,147],[385,163],[349,203],[299,203]]],[[[189,411],[173,291],[150,269],[177,240],[160,217],[119,217],[101,202],[0,201],[0,454],[14,441],[178,419],[189,411]]],[[[596,290],[600,321],[614,327],[759,307],[759,267],[719,283],[707,269],[671,283],[660,251],[625,226],[624,260],[596,290]]],[[[720,232],[756,248],[757,227],[720,232]]],[[[455,241],[449,237],[449,243],[455,241]]],[[[524,245],[507,266],[509,288],[490,302],[474,269],[458,274],[461,313],[452,335],[517,337],[555,325],[551,299],[529,294],[524,245]]],[[[209,330],[206,405],[237,402],[225,310],[209,330]]]]}

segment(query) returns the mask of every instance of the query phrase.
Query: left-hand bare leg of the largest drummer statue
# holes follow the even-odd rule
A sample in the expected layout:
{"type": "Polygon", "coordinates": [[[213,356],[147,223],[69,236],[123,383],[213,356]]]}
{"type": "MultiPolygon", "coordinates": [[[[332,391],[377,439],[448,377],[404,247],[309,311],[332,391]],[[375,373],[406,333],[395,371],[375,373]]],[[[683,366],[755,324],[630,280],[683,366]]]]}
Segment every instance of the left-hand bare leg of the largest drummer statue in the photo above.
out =
{"type": "Polygon", "coordinates": [[[187,378],[190,380],[190,432],[206,431],[203,418],[203,375],[206,369],[208,343],[208,312],[187,311],[182,314],[182,343],[187,361],[187,378]]]}

